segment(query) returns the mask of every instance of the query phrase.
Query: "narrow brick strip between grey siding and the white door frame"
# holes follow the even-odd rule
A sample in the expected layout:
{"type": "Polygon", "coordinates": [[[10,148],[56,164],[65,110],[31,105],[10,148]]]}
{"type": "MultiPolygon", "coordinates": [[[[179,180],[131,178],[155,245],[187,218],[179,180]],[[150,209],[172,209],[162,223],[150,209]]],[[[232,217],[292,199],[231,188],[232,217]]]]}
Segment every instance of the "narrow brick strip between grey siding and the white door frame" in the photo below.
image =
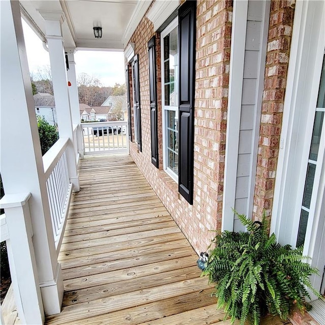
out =
{"type": "Polygon", "coordinates": [[[271,1],[253,217],[271,216],[284,94],[294,22],[292,0],[271,1]]]}

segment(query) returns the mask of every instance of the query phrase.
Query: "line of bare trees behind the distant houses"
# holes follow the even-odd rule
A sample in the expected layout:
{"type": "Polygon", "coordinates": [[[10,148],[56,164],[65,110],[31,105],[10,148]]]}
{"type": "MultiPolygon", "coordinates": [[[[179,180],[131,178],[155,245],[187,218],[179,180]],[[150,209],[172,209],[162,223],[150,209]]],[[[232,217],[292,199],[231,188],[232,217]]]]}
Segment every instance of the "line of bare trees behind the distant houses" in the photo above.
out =
{"type": "MultiPolygon", "coordinates": [[[[53,95],[53,83],[49,66],[40,67],[30,74],[33,94],[49,93],[53,95]]],[[[79,103],[89,106],[101,106],[110,95],[124,95],[125,84],[115,83],[114,87],[104,87],[94,75],[81,73],[77,77],[79,103]]]]}

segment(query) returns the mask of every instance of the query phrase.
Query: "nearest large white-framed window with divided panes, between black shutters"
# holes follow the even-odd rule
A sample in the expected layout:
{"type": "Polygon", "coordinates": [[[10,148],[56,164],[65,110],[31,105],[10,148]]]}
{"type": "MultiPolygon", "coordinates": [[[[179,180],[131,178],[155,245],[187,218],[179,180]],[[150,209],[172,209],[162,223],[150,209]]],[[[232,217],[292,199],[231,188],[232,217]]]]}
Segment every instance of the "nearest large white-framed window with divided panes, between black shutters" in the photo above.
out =
{"type": "Polygon", "coordinates": [[[161,32],[164,169],[178,181],[178,20],[161,32]]]}

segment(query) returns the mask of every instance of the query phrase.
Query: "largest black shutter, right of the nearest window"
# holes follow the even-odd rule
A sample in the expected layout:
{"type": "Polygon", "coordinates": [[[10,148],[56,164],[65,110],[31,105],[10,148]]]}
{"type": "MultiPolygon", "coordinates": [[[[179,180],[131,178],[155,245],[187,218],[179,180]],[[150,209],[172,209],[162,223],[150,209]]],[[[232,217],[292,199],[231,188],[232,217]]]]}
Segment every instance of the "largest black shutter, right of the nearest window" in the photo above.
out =
{"type": "Polygon", "coordinates": [[[194,90],[196,54],[196,1],[178,11],[179,42],[179,151],[178,190],[193,204],[194,90]]]}

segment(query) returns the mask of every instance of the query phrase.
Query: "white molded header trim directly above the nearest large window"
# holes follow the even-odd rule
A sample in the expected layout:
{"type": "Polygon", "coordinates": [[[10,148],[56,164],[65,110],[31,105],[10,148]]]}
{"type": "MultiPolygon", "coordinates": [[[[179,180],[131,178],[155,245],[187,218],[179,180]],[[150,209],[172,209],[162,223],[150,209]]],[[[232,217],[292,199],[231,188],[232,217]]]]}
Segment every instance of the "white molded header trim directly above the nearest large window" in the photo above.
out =
{"type": "Polygon", "coordinates": [[[153,22],[154,30],[156,31],[167,18],[177,9],[180,0],[156,1],[150,10],[147,17],[153,22]]]}

